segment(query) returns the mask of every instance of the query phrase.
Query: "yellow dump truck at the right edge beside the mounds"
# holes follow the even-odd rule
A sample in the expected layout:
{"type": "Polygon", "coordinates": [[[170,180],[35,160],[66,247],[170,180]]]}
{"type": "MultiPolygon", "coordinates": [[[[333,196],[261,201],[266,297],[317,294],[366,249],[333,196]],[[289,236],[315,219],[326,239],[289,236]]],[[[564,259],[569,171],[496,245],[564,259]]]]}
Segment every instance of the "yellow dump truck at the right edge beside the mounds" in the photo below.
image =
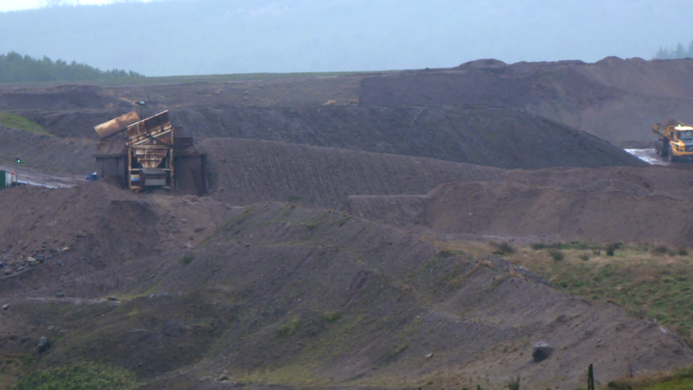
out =
{"type": "Polygon", "coordinates": [[[670,163],[692,161],[693,159],[693,126],[682,124],[672,119],[652,125],[657,134],[655,150],[670,163]]]}

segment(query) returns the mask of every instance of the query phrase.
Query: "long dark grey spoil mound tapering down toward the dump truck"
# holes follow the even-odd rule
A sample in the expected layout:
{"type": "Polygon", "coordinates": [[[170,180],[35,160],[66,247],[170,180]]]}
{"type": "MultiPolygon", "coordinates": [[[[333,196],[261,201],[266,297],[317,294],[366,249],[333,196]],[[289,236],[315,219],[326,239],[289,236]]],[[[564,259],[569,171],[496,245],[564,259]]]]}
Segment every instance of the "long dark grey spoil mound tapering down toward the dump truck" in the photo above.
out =
{"type": "Polygon", "coordinates": [[[179,110],[195,136],[256,138],[499,168],[637,166],[593,136],[502,107],[179,110]]]}

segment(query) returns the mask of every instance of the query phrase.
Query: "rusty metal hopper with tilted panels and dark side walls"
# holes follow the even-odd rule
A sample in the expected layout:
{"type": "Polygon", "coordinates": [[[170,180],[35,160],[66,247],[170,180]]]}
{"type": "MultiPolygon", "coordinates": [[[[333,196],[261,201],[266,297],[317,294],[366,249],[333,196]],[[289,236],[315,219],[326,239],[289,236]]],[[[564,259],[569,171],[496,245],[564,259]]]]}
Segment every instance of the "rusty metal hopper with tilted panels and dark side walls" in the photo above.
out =
{"type": "Polygon", "coordinates": [[[168,110],[146,119],[129,112],[94,126],[94,131],[101,139],[95,156],[99,178],[110,176],[134,192],[179,188],[207,193],[207,155],[195,150],[192,137],[174,136],[168,110]]]}

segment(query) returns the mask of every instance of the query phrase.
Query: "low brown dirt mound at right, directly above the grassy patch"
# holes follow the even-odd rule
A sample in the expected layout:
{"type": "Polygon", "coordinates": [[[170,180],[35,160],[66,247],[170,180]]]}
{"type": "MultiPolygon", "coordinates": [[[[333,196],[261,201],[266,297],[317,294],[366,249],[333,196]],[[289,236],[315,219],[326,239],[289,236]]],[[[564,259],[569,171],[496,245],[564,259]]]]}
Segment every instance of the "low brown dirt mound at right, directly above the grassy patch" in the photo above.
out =
{"type": "Polygon", "coordinates": [[[424,197],[349,197],[346,211],[466,236],[693,246],[683,184],[691,173],[618,169],[508,171],[503,180],[449,183],[424,197]]]}

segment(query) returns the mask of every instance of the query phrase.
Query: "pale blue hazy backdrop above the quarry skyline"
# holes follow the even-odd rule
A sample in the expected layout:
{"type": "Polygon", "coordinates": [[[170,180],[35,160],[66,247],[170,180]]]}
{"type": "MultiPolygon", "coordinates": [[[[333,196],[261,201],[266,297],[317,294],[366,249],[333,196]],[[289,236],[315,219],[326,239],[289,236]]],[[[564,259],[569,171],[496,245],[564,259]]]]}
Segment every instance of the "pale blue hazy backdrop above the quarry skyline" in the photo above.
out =
{"type": "Polygon", "coordinates": [[[650,59],[691,0],[0,0],[0,53],[145,75],[650,59]],[[58,3],[69,6],[55,6],[58,3]],[[91,4],[91,5],[90,5],[91,4]],[[53,5],[48,6],[47,5],[53,5]],[[36,9],[38,6],[43,8],[36,9]],[[10,11],[33,7],[28,11],[10,11]]]}

